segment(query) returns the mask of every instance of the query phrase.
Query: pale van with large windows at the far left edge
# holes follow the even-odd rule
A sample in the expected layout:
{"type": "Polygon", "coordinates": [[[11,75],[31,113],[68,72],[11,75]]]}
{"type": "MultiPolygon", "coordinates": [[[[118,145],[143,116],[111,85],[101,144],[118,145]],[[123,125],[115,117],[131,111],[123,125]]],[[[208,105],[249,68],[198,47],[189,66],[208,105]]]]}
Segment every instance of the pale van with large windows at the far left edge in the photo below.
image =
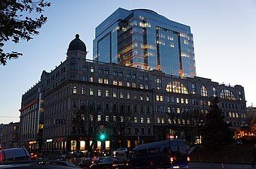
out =
{"type": "Polygon", "coordinates": [[[2,149],[0,150],[0,162],[15,161],[15,160],[29,160],[29,152],[22,147],[2,149]]]}

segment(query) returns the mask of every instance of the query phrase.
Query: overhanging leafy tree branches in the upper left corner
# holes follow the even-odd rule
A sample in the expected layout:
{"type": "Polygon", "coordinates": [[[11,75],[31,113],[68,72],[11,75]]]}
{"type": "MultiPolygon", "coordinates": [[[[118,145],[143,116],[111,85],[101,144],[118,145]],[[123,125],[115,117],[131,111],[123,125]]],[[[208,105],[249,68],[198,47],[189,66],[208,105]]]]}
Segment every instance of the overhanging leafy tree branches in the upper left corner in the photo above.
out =
{"type": "Polygon", "coordinates": [[[47,21],[42,15],[44,8],[51,3],[45,0],[1,0],[0,1],[0,65],[6,65],[8,59],[17,59],[22,53],[11,51],[5,53],[6,41],[19,43],[20,39],[29,41],[32,35],[39,35],[37,29],[47,21]],[[39,17],[34,17],[41,14],[39,17]]]}

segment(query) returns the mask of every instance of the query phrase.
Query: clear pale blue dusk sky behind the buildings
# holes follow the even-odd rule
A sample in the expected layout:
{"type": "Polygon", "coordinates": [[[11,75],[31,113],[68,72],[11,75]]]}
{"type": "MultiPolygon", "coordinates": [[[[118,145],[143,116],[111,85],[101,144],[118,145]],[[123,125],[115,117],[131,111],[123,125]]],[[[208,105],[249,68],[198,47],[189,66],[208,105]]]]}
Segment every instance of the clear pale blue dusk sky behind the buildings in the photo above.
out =
{"type": "Polygon", "coordinates": [[[191,27],[196,74],[218,83],[242,85],[247,105],[256,106],[256,1],[254,0],[62,0],[45,11],[48,22],[32,41],[5,44],[23,53],[0,66],[0,123],[19,121],[21,95],[66,59],[79,33],[92,59],[94,29],[117,8],[148,8],[191,27]]]}

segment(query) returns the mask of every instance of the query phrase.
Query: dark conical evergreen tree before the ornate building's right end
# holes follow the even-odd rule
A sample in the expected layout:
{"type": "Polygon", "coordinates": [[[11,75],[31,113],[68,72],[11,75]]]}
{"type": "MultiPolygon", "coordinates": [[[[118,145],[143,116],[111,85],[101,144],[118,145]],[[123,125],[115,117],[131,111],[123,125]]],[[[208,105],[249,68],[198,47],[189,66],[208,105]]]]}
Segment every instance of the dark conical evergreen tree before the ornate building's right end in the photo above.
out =
{"type": "Polygon", "coordinates": [[[218,98],[211,101],[211,109],[205,114],[205,123],[202,126],[202,143],[206,148],[219,149],[222,145],[233,140],[233,131],[224,121],[224,113],[218,107],[218,98]]]}

